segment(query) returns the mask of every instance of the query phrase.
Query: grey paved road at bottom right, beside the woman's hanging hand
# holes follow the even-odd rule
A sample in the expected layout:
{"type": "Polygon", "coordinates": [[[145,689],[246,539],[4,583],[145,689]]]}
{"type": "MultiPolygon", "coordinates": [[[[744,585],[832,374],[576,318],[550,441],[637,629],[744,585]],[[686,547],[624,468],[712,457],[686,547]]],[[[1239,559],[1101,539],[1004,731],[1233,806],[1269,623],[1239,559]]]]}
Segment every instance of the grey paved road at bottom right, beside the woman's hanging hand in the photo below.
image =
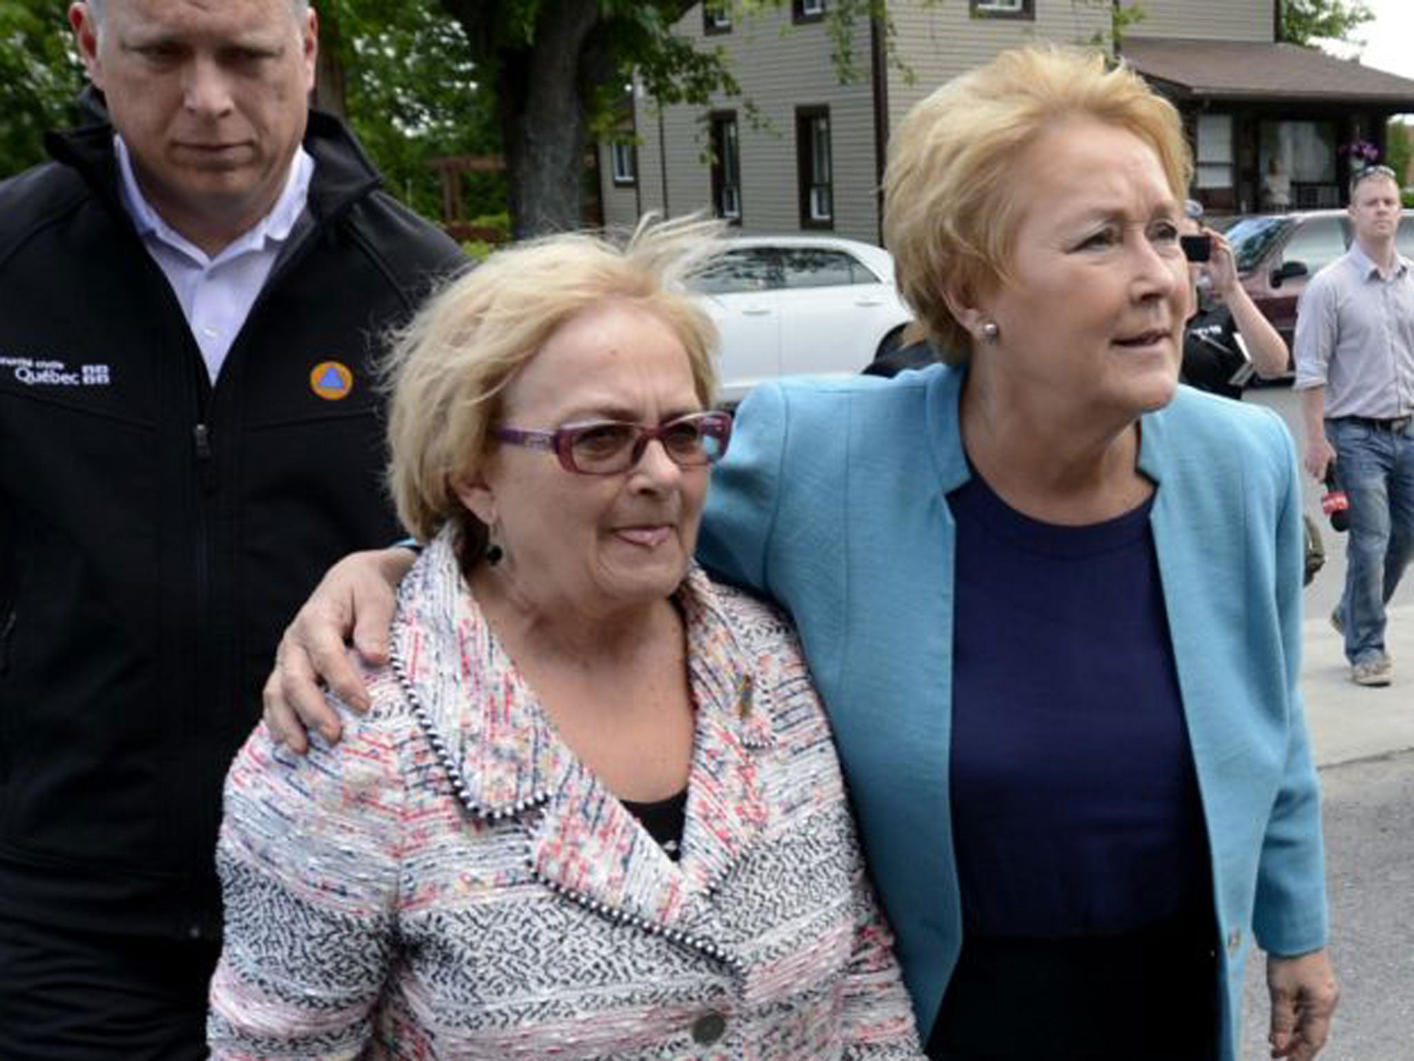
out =
{"type": "MultiPolygon", "coordinates": [[[[1408,707],[1414,712],[1414,702],[1408,707]]],[[[1331,952],[1343,992],[1321,1061],[1411,1061],[1414,753],[1326,767],[1321,781],[1331,952]]],[[[1260,962],[1249,965],[1244,1061],[1267,1057],[1261,973],[1260,962]]]]}

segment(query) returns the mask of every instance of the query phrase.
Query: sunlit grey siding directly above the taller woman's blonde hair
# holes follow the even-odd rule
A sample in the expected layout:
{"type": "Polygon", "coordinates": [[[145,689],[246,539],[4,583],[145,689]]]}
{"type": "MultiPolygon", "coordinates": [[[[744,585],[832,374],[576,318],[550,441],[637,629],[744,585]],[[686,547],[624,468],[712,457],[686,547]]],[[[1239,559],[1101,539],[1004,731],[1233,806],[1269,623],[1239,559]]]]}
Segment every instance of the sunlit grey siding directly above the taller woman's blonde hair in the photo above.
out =
{"type": "Polygon", "coordinates": [[[889,129],[896,129],[909,108],[939,85],[1000,51],[1041,41],[1092,44],[1107,40],[1110,31],[1110,6],[1094,0],[1035,0],[1034,21],[973,17],[967,0],[906,0],[889,10],[898,58],[913,74],[909,83],[905,72],[891,64],[889,129]]]}

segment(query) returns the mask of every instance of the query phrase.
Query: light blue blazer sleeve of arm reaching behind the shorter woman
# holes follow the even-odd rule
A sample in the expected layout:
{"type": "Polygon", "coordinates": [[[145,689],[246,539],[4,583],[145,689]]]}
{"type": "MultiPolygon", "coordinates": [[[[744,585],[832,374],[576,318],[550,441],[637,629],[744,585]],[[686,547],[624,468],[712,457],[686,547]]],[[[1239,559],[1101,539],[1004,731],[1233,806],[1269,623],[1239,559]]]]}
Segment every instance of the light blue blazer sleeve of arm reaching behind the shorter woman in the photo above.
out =
{"type": "Polygon", "coordinates": [[[789,407],[775,383],[752,388],[737,409],[731,446],[713,468],[697,560],[717,579],[771,594],[771,535],[781,501],[789,407]]]}

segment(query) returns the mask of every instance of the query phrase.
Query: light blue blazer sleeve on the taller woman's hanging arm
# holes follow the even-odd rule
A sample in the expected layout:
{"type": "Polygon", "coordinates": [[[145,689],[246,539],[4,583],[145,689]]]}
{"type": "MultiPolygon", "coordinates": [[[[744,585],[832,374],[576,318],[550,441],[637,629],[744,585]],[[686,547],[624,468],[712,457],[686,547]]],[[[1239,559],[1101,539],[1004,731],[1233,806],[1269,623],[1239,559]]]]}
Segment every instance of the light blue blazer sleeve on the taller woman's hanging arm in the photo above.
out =
{"type": "Polygon", "coordinates": [[[1321,782],[1311,754],[1301,697],[1301,478],[1291,436],[1281,429],[1285,491],[1277,521],[1277,610],[1285,649],[1285,700],[1290,705],[1285,771],[1263,837],[1257,864],[1253,931],[1264,951],[1299,955],[1326,945],[1329,935],[1325,853],[1321,836],[1321,782]]]}

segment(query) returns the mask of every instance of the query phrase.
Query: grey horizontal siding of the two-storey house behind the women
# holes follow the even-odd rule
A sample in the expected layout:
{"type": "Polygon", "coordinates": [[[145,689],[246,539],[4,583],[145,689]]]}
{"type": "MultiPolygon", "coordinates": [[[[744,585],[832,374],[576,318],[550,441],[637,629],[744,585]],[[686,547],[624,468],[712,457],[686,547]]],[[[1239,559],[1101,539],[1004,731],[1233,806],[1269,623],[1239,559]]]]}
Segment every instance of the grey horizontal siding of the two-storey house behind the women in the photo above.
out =
{"type": "MultiPolygon", "coordinates": [[[[1128,0],[1126,0],[1128,1],[1128,0]]],[[[1143,37],[1271,40],[1273,0],[1144,0],[1145,17],[1131,27],[1143,37]]],[[[659,113],[639,98],[639,187],[614,188],[607,166],[604,214],[631,224],[639,205],[672,215],[711,208],[707,113],[735,110],[741,140],[741,228],[793,232],[800,212],[796,188],[795,109],[829,106],[834,163],[834,232],[878,240],[878,160],[867,21],[854,30],[858,81],[840,85],[823,24],[792,25],[790,4],[738,21],[731,33],[704,37],[701,7],[691,8],[677,33],[703,48],[721,48],[741,83],[741,99],[708,108],[670,106],[659,113]],[[754,123],[742,100],[759,109],[754,123]],[[666,177],[666,180],[665,180],[666,177]]],[[[887,74],[885,134],[919,99],[949,78],[1005,48],[1039,41],[1109,48],[1109,0],[1035,0],[1034,20],[973,17],[967,0],[895,0],[894,61],[887,74]]],[[[602,154],[601,157],[608,161],[602,154]]]]}

